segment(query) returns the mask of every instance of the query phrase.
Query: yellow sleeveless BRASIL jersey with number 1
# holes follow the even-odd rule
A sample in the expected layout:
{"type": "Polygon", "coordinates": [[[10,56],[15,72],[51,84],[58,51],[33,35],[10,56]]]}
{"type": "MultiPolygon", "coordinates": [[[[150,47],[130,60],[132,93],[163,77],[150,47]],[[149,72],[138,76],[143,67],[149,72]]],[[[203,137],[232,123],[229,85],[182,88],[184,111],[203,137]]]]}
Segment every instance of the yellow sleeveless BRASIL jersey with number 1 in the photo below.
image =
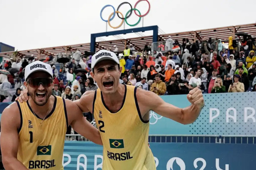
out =
{"type": "Polygon", "coordinates": [[[22,118],[17,158],[28,169],[63,170],[68,119],[64,99],[54,97],[53,109],[44,121],[33,114],[28,102],[17,102],[22,118]]]}

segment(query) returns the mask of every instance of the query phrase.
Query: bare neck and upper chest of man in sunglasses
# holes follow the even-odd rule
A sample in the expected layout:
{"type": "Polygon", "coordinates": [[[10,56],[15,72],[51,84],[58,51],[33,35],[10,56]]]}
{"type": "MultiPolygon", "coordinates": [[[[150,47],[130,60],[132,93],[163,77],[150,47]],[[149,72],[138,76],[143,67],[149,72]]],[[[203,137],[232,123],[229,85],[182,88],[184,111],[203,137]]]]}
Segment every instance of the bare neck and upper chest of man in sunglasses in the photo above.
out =
{"type": "Polygon", "coordinates": [[[31,99],[31,97],[29,98],[29,105],[32,108],[34,114],[36,114],[37,116],[39,116],[40,118],[44,118],[46,114],[49,114],[51,112],[51,110],[53,109],[53,103],[54,103],[54,96],[51,96],[47,103],[43,106],[39,106],[37,104],[35,104],[35,102],[31,99]]]}

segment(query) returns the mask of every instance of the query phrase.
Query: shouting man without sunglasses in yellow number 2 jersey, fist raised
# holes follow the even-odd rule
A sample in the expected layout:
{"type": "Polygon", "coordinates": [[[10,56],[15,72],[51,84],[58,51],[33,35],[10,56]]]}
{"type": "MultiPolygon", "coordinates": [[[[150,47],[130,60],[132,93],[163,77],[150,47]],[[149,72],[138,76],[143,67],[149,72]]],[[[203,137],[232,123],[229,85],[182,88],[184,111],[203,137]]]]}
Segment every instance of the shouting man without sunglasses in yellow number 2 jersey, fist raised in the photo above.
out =
{"type": "MultiPolygon", "coordinates": [[[[86,91],[75,103],[94,115],[103,143],[103,170],[155,170],[148,147],[149,111],[174,121],[193,123],[204,106],[202,91],[195,88],[186,108],[164,102],[151,91],[119,83],[122,67],[115,53],[100,50],[91,58],[91,76],[99,88],[86,91]]],[[[20,100],[25,100],[25,96],[20,100]]]]}

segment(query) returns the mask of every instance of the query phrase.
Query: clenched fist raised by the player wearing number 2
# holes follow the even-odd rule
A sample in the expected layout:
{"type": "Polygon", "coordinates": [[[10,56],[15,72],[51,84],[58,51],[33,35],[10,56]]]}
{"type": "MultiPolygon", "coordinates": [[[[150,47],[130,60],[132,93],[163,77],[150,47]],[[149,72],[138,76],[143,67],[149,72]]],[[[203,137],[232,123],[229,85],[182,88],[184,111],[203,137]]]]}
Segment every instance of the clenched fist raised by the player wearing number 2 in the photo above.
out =
{"type": "Polygon", "coordinates": [[[203,108],[204,106],[202,90],[197,87],[189,91],[187,99],[191,104],[197,106],[198,108],[203,108]]]}

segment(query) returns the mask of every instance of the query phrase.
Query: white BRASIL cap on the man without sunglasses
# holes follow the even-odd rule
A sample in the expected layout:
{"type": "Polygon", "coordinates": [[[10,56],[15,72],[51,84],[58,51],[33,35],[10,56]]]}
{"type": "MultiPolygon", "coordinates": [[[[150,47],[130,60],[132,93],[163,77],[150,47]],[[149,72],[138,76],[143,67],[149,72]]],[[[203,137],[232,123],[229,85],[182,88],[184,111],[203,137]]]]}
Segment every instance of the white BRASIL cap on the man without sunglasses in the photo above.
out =
{"type": "Polygon", "coordinates": [[[102,60],[113,60],[119,64],[119,60],[115,53],[109,50],[100,50],[91,57],[91,68],[94,68],[94,66],[102,60]]]}

